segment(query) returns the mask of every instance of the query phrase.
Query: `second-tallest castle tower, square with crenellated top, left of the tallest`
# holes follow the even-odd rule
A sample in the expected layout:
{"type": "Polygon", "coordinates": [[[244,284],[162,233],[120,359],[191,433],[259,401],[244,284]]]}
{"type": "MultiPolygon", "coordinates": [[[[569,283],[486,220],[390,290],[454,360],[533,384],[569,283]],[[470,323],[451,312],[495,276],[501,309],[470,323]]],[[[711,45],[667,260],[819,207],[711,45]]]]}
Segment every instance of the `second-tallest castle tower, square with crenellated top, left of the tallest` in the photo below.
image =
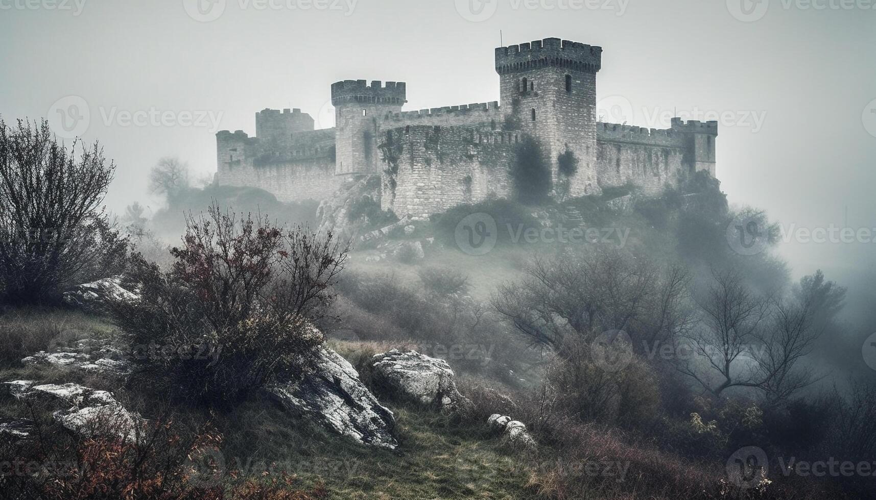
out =
{"type": "Polygon", "coordinates": [[[331,86],[336,118],[336,175],[379,173],[380,123],[387,113],[398,113],[406,102],[403,82],[338,81],[331,86]]]}

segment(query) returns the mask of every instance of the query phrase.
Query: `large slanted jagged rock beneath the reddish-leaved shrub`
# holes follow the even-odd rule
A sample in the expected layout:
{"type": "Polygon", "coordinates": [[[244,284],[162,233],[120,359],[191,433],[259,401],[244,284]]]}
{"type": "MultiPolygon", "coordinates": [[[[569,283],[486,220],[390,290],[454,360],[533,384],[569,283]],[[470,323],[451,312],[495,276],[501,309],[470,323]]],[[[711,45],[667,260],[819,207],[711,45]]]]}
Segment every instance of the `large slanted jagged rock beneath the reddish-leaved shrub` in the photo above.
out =
{"type": "Polygon", "coordinates": [[[359,374],[335,351],[321,349],[316,370],[299,384],[268,389],[287,410],[320,422],[360,443],[395,449],[395,417],[359,380],[359,374]]]}

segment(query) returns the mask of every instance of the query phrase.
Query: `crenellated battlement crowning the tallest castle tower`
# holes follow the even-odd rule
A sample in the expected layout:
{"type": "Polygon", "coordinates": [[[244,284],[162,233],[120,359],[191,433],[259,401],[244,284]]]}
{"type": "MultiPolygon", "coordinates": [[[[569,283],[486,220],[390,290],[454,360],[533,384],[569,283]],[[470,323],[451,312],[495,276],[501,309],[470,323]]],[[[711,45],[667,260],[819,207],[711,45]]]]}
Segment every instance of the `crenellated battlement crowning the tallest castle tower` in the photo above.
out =
{"type": "Polygon", "coordinates": [[[602,67],[602,47],[570,40],[543,39],[496,49],[498,74],[548,66],[596,73],[602,67]]]}

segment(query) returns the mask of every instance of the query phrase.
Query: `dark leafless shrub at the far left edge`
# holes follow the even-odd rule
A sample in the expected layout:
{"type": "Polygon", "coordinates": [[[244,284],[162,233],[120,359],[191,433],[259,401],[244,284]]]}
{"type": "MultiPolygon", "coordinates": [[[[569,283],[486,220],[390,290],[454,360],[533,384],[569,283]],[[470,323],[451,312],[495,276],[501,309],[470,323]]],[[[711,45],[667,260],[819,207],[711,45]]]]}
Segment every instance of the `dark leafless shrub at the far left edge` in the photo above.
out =
{"type": "Polygon", "coordinates": [[[127,243],[102,208],[116,166],[98,144],[81,154],[48,122],[0,121],[0,299],[60,300],[71,285],[121,271],[127,243]]]}

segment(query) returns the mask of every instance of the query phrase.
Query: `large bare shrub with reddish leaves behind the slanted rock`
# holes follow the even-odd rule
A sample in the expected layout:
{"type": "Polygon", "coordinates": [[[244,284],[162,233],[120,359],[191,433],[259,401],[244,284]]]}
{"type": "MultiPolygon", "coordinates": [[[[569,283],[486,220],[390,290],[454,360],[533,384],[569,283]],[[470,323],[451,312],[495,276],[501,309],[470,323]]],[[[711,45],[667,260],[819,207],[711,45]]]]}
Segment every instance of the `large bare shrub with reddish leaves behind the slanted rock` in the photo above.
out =
{"type": "Polygon", "coordinates": [[[171,271],[142,257],[142,299],[114,306],[117,324],[153,390],[230,405],[253,389],[300,377],[324,341],[309,319],[334,299],[347,250],[329,234],[240,221],[220,208],[189,217],[171,271]],[[153,347],[154,346],[154,347],[153,347]]]}

